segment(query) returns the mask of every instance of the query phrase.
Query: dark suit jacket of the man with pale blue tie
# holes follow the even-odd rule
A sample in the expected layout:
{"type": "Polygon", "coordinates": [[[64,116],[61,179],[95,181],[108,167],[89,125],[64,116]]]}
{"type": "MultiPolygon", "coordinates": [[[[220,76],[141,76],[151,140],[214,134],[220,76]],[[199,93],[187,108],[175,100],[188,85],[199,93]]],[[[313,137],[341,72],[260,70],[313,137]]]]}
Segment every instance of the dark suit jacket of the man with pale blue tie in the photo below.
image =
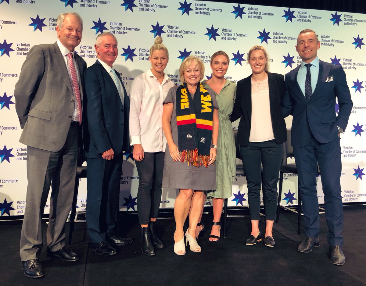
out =
{"type": "Polygon", "coordinates": [[[101,158],[110,148],[116,156],[130,146],[130,99],[119,73],[116,75],[123,87],[124,106],[113,79],[98,60],[85,70],[83,143],[86,158],[101,158]]]}

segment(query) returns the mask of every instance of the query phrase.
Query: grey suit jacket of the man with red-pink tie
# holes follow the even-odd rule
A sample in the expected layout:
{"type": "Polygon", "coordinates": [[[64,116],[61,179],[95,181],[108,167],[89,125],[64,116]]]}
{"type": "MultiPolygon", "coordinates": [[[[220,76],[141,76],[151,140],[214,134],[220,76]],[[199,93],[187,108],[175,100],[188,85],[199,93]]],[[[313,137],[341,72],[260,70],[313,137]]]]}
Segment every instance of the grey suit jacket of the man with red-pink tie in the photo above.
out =
{"type": "MultiPolygon", "coordinates": [[[[85,61],[75,54],[83,98],[85,61]]],[[[67,138],[74,94],[57,42],[33,46],[15,84],[15,109],[23,129],[19,142],[42,150],[59,151],[67,138]]]]}

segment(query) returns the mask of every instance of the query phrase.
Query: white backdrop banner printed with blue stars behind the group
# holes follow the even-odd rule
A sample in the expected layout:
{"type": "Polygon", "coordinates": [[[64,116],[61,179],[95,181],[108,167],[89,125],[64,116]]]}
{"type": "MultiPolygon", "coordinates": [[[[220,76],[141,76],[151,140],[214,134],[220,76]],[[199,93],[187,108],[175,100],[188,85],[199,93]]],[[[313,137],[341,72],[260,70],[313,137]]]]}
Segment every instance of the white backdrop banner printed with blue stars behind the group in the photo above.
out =
{"type": "MultiPolygon", "coordinates": [[[[237,82],[251,74],[246,57],[253,45],[264,45],[270,71],[286,74],[300,62],[296,37],[313,29],[321,41],[321,60],[342,65],[354,106],[341,135],[343,202],[365,202],[366,190],[366,15],[291,7],[217,3],[190,0],[0,0],[0,214],[22,215],[26,206],[27,146],[19,143],[21,129],[15,112],[14,86],[33,45],[57,40],[56,18],[78,12],[84,21],[81,45],[75,50],[87,65],[96,60],[96,35],[109,31],[118,39],[120,72],[127,93],[135,76],[150,68],[149,49],[161,35],[169,49],[166,74],[179,83],[179,65],[188,55],[200,57],[210,78],[210,56],[224,50],[231,58],[227,79],[237,82]]],[[[87,84],[87,83],[86,83],[87,84]]],[[[337,105],[335,112],[338,111],[337,105]]],[[[291,127],[291,116],[286,119],[291,127]]],[[[233,123],[236,128],[238,121],[233,123]]],[[[138,173],[125,154],[120,185],[120,210],[137,210],[138,173]]],[[[319,202],[324,202],[320,177],[319,202]]],[[[297,204],[297,177],[285,174],[282,204],[297,204]]],[[[236,177],[229,206],[247,206],[245,177],[236,177]]],[[[173,207],[176,189],[164,189],[161,207],[173,207]]],[[[210,205],[209,201],[206,205],[210,205]]],[[[86,180],[80,182],[78,211],[86,207],[86,180]]],[[[45,213],[49,212],[49,202],[45,213]]]]}

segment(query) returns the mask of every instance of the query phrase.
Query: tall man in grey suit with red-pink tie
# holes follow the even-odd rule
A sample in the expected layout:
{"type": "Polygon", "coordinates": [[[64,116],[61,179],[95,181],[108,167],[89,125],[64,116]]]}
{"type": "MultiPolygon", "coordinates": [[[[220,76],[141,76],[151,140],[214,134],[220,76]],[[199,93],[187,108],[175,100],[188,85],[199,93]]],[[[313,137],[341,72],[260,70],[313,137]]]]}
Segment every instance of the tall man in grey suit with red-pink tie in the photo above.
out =
{"type": "Polygon", "coordinates": [[[77,13],[57,17],[57,42],[33,46],[15,85],[16,113],[27,145],[27,204],[20,237],[20,259],[26,276],[44,275],[42,214],[52,183],[47,255],[64,261],[79,259],[65,246],[82,122],[85,61],[74,49],[81,41],[83,22],[77,13]]]}

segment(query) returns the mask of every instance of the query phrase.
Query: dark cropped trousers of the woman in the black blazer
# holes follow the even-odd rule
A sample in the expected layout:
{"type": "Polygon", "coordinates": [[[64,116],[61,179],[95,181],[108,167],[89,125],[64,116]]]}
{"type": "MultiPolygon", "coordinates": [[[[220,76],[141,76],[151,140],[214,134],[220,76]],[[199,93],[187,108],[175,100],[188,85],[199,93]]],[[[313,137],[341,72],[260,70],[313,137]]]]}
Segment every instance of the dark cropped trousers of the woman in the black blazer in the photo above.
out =
{"type": "Polygon", "coordinates": [[[274,221],[276,218],[277,182],[279,180],[282,154],[283,145],[277,144],[275,140],[249,142],[246,147],[240,146],[240,155],[248,184],[250,219],[253,221],[259,220],[262,184],[266,219],[274,221]],[[261,177],[261,165],[263,166],[263,178],[261,177]]]}

